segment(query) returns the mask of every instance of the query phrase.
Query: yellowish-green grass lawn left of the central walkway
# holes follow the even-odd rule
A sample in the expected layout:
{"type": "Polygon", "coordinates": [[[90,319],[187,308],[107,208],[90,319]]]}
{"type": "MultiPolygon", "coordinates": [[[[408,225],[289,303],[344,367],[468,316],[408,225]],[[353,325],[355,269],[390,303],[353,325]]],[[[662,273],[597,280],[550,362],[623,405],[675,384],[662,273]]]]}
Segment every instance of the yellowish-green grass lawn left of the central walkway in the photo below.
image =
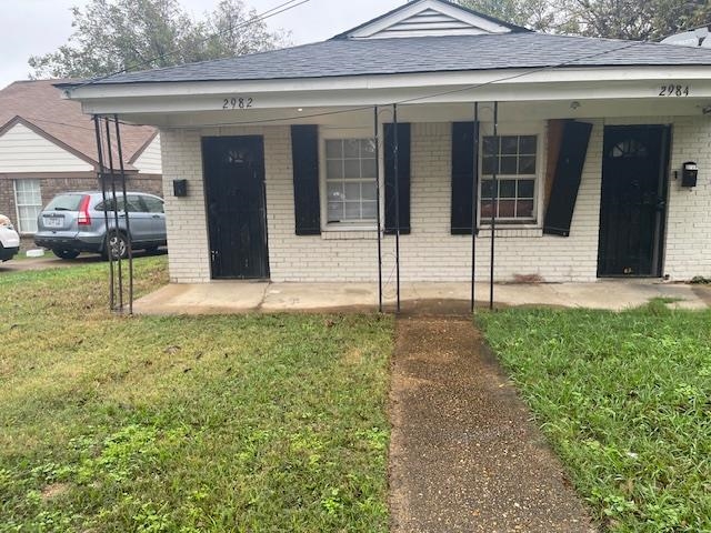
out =
{"type": "Polygon", "coordinates": [[[387,531],[391,319],[120,318],[106,279],[0,275],[0,532],[387,531]]]}

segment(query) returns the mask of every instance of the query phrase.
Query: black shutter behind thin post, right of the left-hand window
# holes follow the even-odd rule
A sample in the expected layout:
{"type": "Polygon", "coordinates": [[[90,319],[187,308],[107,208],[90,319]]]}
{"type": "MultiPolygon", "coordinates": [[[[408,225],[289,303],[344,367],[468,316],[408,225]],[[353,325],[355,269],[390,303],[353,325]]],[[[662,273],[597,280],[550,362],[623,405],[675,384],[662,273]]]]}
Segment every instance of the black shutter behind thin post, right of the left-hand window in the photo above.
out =
{"type": "MultiPolygon", "coordinates": [[[[394,124],[383,124],[385,164],[385,233],[395,232],[394,124]]],[[[400,233],[410,233],[410,124],[398,123],[398,170],[400,189],[400,233]]]]}

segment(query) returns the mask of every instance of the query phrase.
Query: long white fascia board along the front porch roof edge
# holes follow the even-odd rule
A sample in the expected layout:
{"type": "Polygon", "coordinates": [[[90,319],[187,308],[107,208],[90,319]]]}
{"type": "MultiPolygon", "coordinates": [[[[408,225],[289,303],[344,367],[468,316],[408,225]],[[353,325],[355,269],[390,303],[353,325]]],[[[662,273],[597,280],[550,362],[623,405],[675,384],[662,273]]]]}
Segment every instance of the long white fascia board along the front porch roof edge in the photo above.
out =
{"type": "Polygon", "coordinates": [[[148,97],[249,95],[292,91],[352,90],[379,88],[442,87],[479,83],[559,83],[590,81],[711,80],[711,66],[591,67],[551,69],[507,69],[411,74],[302,78],[293,80],[191,81],[162,83],[117,83],[83,86],[72,91],[78,101],[140,99],[148,97]]]}

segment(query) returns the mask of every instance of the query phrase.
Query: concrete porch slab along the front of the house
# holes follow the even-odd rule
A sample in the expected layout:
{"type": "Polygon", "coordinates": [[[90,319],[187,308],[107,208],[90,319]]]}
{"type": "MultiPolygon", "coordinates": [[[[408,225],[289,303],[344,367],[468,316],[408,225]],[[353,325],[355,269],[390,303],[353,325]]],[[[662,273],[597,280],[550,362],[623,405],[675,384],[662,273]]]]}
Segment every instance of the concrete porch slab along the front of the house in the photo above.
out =
{"type": "MultiPolygon", "coordinates": [[[[421,308],[437,311],[440,305],[458,303],[468,309],[468,283],[404,283],[402,309],[421,308]]],[[[385,303],[392,309],[394,288],[384,288],[385,303]]],[[[595,283],[497,284],[499,305],[553,305],[622,310],[639,306],[654,298],[677,301],[674,306],[707,306],[692,285],[658,281],[620,280],[595,283]]],[[[489,285],[477,285],[477,300],[487,301],[489,285]]],[[[372,311],[377,309],[374,283],[262,283],[216,281],[201,284],[170,284],[136,302],[139,314],[210,314],[281,311],[372,311]]]]}

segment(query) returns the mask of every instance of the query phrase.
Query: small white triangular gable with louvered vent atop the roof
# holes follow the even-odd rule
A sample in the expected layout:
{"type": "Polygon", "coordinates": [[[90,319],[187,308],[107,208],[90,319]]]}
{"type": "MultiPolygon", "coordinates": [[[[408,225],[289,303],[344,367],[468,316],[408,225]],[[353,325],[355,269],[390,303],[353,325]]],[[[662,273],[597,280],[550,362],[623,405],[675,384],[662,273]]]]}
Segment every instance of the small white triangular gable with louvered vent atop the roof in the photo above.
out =
{"type": "Polygon", "coordinates": [[[443,0],[415,0],[348,30],[334,39],[480,36],[528,31],[443,0]]]}

